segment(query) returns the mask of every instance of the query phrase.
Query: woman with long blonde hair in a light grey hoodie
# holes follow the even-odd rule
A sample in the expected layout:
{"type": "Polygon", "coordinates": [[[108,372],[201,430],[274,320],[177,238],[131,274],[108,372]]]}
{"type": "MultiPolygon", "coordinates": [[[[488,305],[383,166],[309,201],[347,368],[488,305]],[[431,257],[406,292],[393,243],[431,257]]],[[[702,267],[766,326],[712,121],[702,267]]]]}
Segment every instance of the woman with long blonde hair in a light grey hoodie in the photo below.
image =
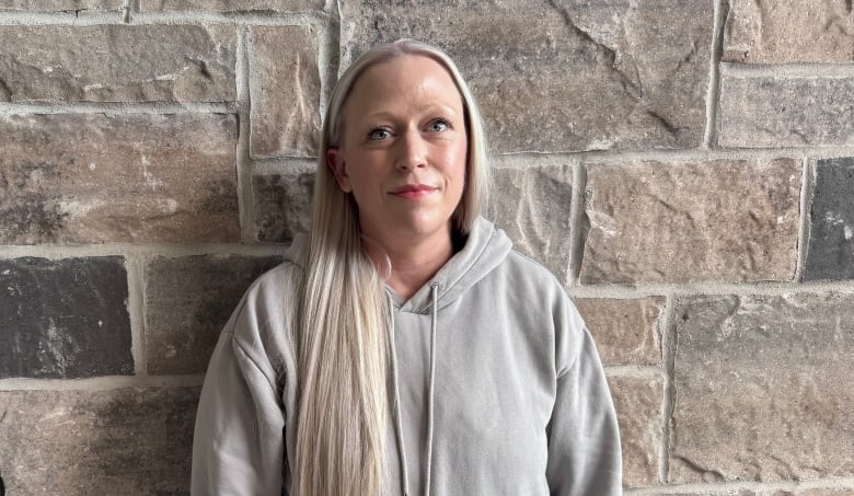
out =
{"type": "Polygon", "coordinates": [[[193,494],[621,494],[613,406],[561,285],[480,217],[483,126],[412,41],[333,92],[308,239],[226,326],[193,494]]]}

